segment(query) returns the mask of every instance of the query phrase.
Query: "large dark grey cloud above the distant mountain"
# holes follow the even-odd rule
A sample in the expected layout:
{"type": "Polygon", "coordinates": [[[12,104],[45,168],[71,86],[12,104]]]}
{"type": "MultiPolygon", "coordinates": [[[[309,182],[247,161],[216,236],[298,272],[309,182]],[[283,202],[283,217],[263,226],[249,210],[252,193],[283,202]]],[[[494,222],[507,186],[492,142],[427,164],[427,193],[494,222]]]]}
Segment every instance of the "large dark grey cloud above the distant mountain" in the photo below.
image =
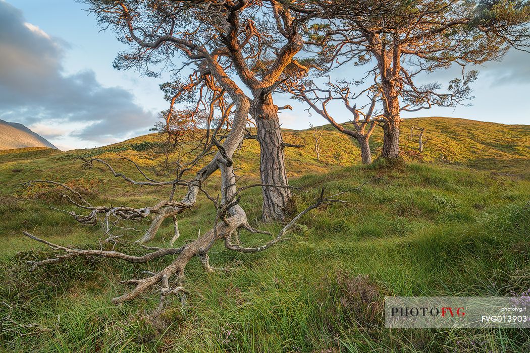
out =
{"type": "MultiPolygon", "coordinates": [[[[60,126],[74,123],[72,137],[107,142],[145,131],[155,120],[121,87],[103,87],[92,70],[63,75],[68,44],[25,21],[0,0],[0,119],[60,126]]],[[[48,129],[45,135],[58,137],[48,129]]]]}

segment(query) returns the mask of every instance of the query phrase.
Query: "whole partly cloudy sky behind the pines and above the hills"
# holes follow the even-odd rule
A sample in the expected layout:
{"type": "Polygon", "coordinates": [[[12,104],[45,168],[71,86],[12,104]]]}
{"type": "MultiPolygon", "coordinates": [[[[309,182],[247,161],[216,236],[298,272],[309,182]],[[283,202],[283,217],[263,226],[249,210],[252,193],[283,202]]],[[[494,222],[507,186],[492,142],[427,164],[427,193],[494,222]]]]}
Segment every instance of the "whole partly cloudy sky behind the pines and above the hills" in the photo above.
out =
{"type": "MultiPolygon", "coordinates": [[[[154,78],[112,67],[125,49],[116,34],[100,32],[86,5],[73,0],[0,0],[0,119],[22,123],[61,150],[93,148],[149,132],[167,109],[154,78]]],[[[472,106],[435,107],[402,117],[449,116],[504,124],[530,124],[530,53],[510,51],[502,62],[480,67],[472,106]]],[[[341,67],[332,78],[362,77],[363,68],[341,67]]],[[[421,77],[447,87],[460,71],[421,77]]],[[[317,114],[289,96],[276,95],[282,127],[323,125],[317,114]]],[[[331,107],[335,120],[350,116],[331,107]]]]}

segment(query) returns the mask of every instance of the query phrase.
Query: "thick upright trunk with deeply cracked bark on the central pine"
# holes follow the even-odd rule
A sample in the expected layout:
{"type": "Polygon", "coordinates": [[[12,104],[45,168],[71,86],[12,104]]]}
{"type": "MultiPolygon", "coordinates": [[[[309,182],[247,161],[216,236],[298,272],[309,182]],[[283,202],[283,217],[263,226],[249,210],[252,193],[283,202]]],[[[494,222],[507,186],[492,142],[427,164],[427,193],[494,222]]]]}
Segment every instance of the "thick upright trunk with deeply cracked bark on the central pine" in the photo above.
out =
{"type": "MultiPolygon", "coordinates": [[[[253,105],[252,115],[258,127],[257,139],[260,143],[261,183],[288,186],[285,170],[284,140],[281,135],[278,109],[269,97],[264,102],[253,105]]],[[[283,221],[284,208],[291,196],[288,187],[263,186],[262,220],[283,221]]]]}

